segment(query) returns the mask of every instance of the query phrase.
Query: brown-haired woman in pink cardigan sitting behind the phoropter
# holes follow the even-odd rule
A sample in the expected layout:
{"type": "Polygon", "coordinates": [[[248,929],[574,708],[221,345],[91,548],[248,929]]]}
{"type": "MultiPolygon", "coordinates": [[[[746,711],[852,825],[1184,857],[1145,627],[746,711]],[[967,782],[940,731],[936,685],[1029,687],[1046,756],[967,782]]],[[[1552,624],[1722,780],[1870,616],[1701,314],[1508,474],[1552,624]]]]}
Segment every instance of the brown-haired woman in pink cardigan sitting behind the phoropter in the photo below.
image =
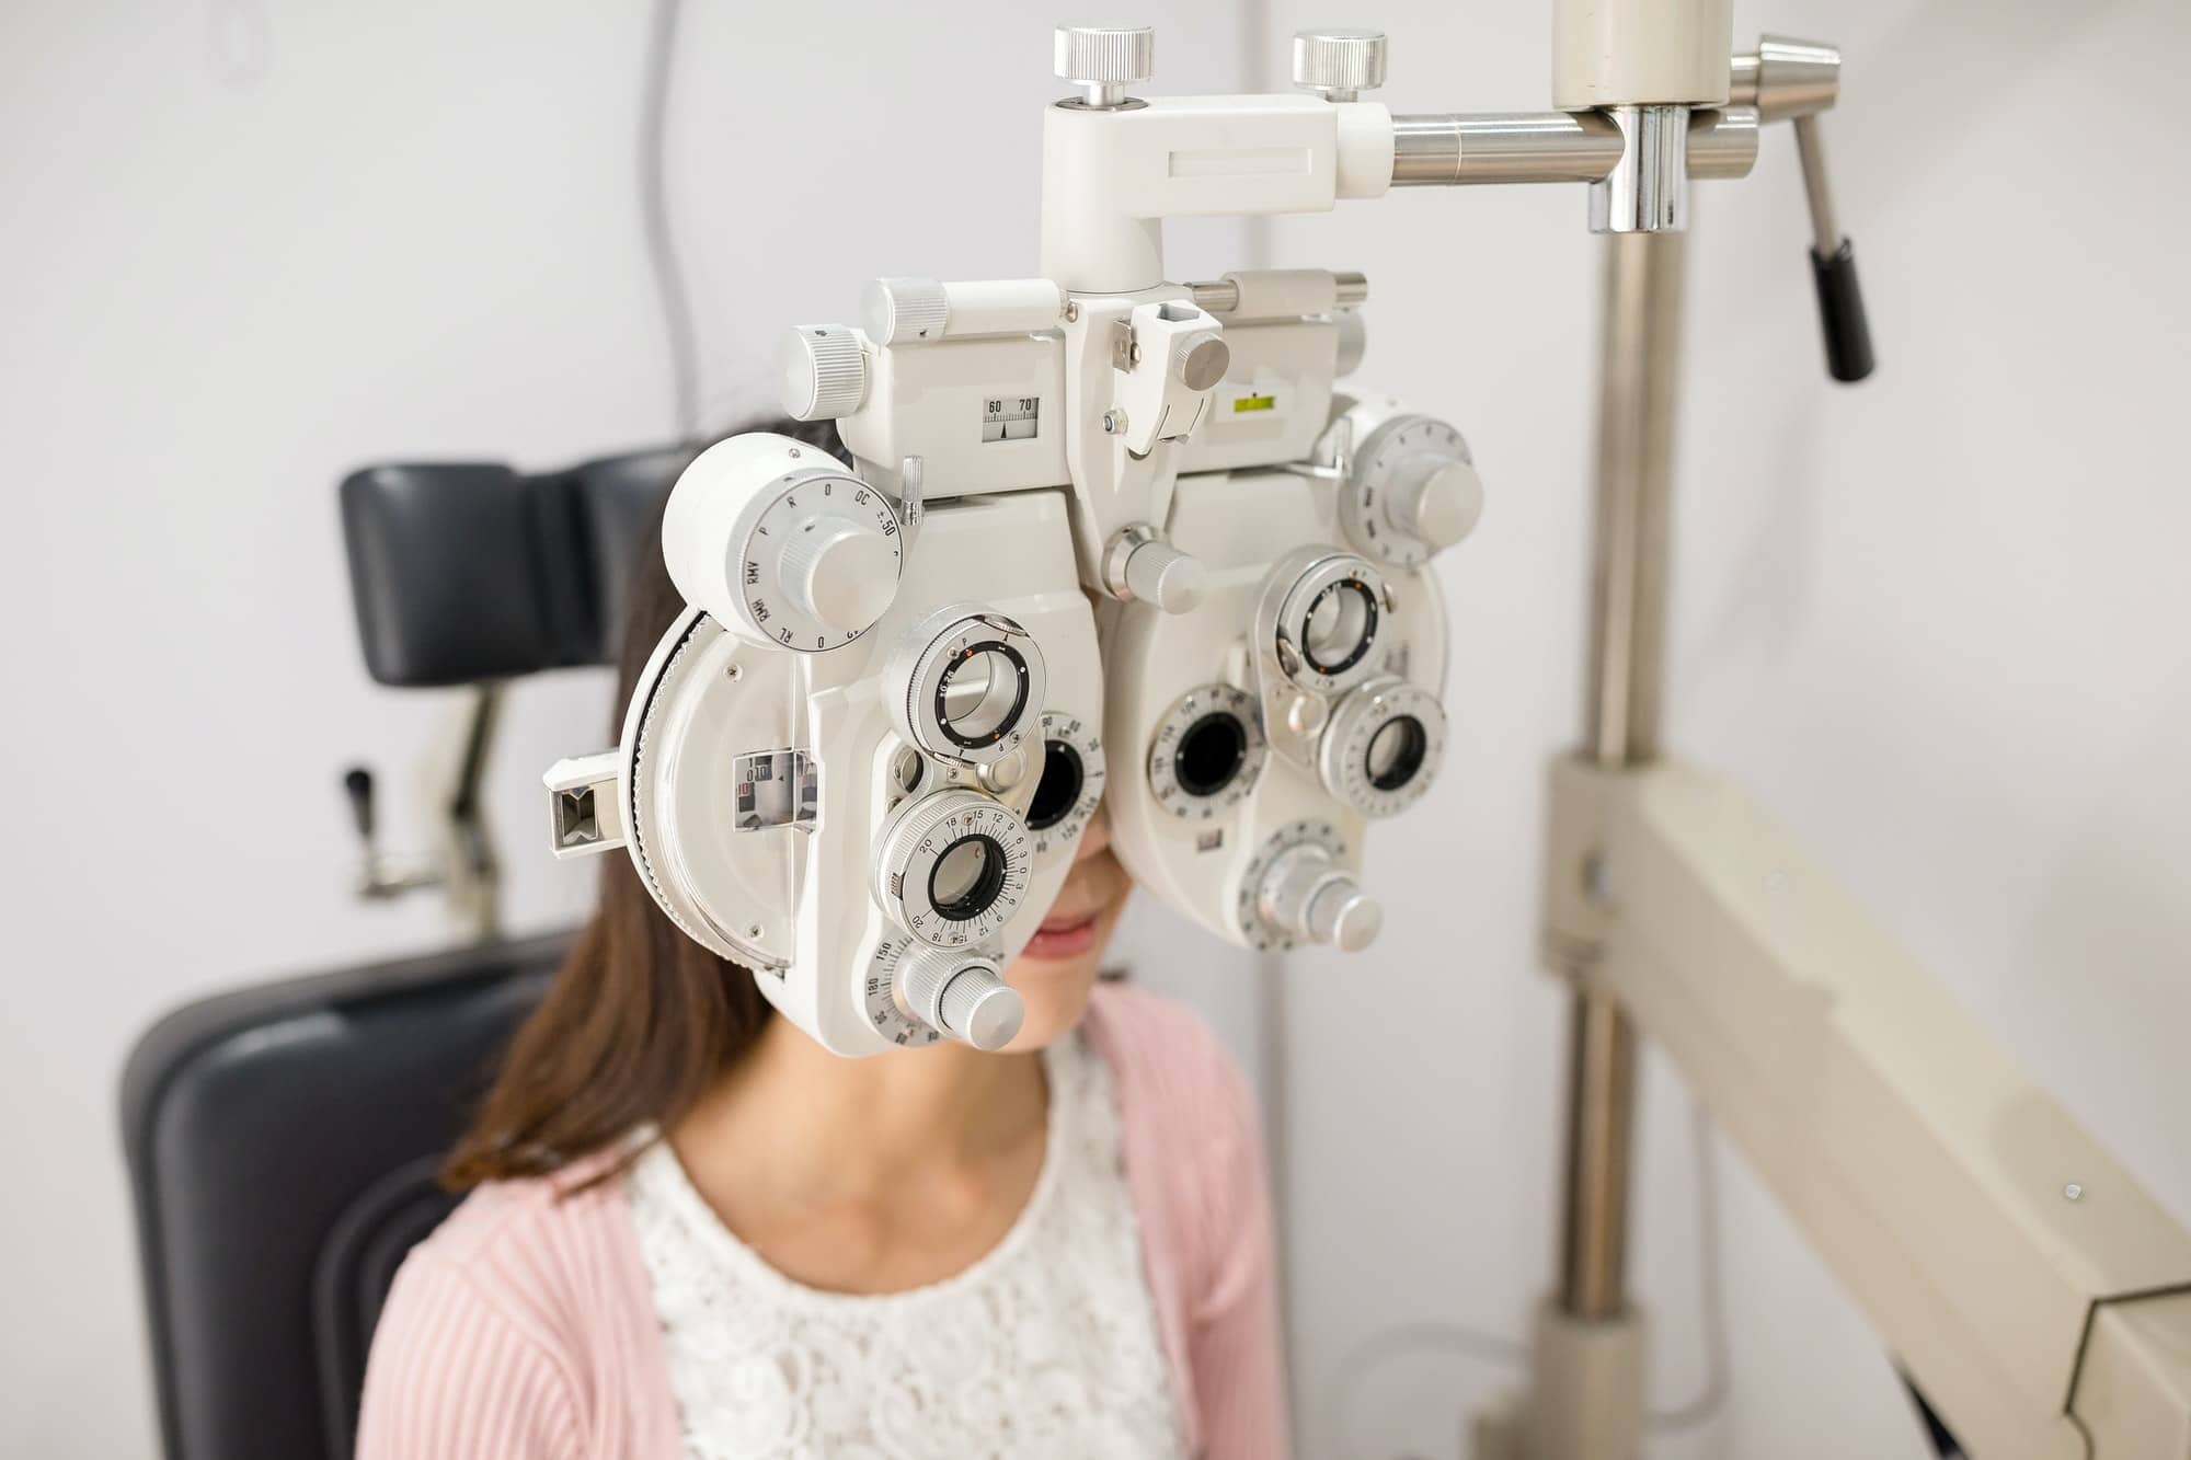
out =
{"type": "MultiPolygon", "coordinates": [[[[653,541],[618,706],[681,607],[653,541]]],[[[1098,815],[1008,1050],[839,1059],[613,857],[397,1274],[359,1456],[1284,1456],[1249,1096],[1098,984],[1128,890],[1098,815]]]]}

